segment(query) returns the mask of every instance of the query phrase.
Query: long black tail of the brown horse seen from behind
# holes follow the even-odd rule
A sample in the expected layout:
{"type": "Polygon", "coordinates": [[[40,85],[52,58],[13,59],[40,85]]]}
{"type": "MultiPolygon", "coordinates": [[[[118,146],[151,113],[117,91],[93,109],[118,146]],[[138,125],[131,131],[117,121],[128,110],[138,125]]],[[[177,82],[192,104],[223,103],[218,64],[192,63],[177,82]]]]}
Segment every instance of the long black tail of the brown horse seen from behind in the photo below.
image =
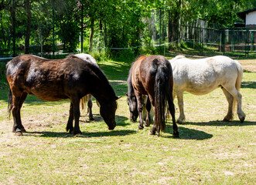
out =
{"type": "MultiPolygon", "coordinates": [[[[153,62],[158,60],[155,59],[153,62]]],[[[169,87],[169,72],[166,72],[166,67],[160,63],[155,73],[155,126],[158,133],[160,130],[166,130],[165,108],[170,93],[169,87]]]]}

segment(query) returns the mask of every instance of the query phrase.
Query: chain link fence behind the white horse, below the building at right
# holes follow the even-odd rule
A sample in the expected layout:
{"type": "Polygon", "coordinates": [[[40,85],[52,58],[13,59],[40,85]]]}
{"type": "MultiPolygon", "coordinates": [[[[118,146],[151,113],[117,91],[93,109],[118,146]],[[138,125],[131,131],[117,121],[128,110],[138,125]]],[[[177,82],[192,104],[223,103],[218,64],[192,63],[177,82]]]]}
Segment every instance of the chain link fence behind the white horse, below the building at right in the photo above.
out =
{"type": "MultiPolygon", "coordinates": [[[[167,25],[162,25],[166,26],[167,25]]],[[[212,29],[194,25],[178,25],[177,40],[168,42],[167,32],[155,31],[155,42],[178,45],[185,42],[189,48],[199,50],[200,55],[206,52],[221,52],[223,55],[256,54],[256,28],[212,29]],[[163,35],[159,35],[159,33],[163,35]],[[164,39],[162,39],[164,38],[164,39]]],[[[162,30],[159,27],[159,30],[162,30]]],[[[170,33],[172,34],[172,33],[170,33]]]]}

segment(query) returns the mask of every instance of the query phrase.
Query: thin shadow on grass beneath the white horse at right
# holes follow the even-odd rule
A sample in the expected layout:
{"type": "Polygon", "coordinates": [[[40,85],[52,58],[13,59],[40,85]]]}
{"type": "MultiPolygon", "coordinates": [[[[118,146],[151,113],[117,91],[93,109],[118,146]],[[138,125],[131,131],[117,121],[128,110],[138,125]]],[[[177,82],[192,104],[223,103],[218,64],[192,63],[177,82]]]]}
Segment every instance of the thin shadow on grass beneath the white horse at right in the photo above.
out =
{"type": "Polygon", "coordinates": [[[240,121],[230,121],[230,122],[223,122],[223,121],[210,121],[210,122],[185,122],[180,125],[196,125],[196,126],[253,126],[256,125],[256,122],[251,121],[244,121],[244,123],[240,123],[240,121]]]}

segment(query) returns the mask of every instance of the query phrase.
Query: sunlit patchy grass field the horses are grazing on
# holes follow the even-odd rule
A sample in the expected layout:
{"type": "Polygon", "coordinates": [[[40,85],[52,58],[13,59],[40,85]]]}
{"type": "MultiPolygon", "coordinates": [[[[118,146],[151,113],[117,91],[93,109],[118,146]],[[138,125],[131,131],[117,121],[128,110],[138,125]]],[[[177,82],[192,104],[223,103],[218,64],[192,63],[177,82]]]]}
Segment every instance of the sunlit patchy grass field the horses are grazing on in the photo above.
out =
{"type": "MultiPolygon", "coordinates": [[[[0,87],[0,184],[255,184],[256,61],[240,60],[244,123],[220,120],[227,113],[221,89],[206,96],[184,95],[186,123],[179,139],[172,122],[162,136],[137,130],[128,119],[124,92],[131,62],[101,61],[99,66],[118,96],[117,126],[108,130],[94,101],[95,121],[81,111],[82,136],[65,132],[69,101],[43,102],[29,96],[22,107],[28,133],[12,133],[7,90],[0,87]]],[[[175,101],[177,106],[177,102],[175,101]]],[[[176,109],[176,118],[179,110],[176,109]]]]}

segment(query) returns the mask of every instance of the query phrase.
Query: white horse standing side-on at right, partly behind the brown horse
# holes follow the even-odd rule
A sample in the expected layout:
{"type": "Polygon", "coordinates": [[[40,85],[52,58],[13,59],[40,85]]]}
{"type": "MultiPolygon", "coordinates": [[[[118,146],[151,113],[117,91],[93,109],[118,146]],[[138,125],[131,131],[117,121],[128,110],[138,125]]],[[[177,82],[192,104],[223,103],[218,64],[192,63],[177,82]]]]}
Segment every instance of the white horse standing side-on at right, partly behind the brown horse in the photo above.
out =
{"type": "Polygon", "coordinates": [[[224,121],[233,119],[233,109],[237,102],[237,115],[244,122],[245,114],[242,110],[242,96],[239,93],[243,69],[239,62],[227,56],[217,55],[205,59],[186,59],[178,55],[169,62],[173,69],[173,98],[177,96],[179,105],[179,119],[183,123],[183,93],[186,91],[194,95],[204,95],[221,87],[228,102],[227,116],[224,121]]]}

